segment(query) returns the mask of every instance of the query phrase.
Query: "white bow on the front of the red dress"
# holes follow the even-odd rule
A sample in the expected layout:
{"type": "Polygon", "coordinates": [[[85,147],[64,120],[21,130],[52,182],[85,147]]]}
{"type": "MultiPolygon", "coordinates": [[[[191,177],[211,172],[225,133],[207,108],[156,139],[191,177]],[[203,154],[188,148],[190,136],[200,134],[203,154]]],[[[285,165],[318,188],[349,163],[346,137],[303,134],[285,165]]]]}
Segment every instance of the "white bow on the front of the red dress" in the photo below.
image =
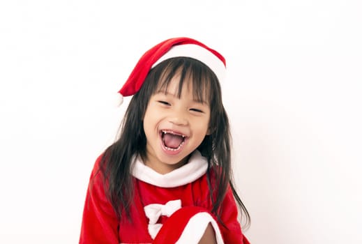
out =
{"type": "Polygon", "coordinates": [[[144,206],[144,213],[149,218],[149,234],[154,239],[160,231],[162,224],[156,224],[161,215],[171,216],[172,213],[176,212],[181,208],[181,200],[168,201],[165,205],[163,204],[149,204],[144,206]]]}

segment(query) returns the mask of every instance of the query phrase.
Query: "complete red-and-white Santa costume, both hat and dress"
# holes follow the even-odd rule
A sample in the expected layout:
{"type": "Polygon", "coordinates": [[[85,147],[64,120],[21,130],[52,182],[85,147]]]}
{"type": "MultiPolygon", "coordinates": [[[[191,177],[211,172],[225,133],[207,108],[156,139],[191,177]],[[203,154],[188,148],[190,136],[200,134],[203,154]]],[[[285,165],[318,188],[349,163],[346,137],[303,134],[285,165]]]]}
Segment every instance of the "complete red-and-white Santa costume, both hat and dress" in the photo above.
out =
{"type": "MultiPolygon", "coordinates": [[[[209,66],[222,82],[225,59],[218,52],[191,38],[172,38],[149,49],[119,91],[132,96],[141,88],[149,70],[165,59],[188,56],[209,66]]],[[[211,213],[213,203],[206,176],[208,162],[194,151],[188,163],[167,174],[159,174],[135,155],[132,162],[133,204],[129,215],[116,217],[99,171],[101,156],[91,173],[84,205],[80,243],[187,243],[197,244],[206,227],[213,227],[218,244],[248,244],[238,221],[238,208],[227,188],[220,205],[220,220],[211,213]]],[[[214,172],[209,172],[213,178],[214,172]]]]}

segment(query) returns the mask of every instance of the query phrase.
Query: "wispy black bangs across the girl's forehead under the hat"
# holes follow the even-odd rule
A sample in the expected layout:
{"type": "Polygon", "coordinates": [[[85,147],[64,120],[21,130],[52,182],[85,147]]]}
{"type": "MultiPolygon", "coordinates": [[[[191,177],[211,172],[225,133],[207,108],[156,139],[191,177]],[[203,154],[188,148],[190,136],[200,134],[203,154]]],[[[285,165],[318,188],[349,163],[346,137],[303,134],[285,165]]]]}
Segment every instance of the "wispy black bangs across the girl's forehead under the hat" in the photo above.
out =
{"type": "Polygon", "coordinates": [[[158,68],[159,75],[156,75],[158,79],[156,79],[156,86],[152,93],[167,93],[171,80],[178,77],[179,86],[176,91],[178,98],[181,97],[183,84],[192,82],[194,100],[211,105],[211,98],[216,95],[215,89],[218,86],[218,79],[204,63],[196,59],[181,57],[167,59],[158,66],[156,68],[158,68]]]}

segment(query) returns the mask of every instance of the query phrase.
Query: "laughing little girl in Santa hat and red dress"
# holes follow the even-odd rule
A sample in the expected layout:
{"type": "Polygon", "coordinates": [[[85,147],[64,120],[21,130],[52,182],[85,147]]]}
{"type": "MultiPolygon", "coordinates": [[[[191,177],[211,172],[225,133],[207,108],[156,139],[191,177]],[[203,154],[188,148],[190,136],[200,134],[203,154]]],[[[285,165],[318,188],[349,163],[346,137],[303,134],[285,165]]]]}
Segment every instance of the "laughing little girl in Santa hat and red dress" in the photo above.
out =
{"type": "Polygon", "coordinates": [[[224,57],[191,38],[149,49],[119,91],[119,139],[96,160],[80,243],[249,243],[220,83],[224,57]]]}

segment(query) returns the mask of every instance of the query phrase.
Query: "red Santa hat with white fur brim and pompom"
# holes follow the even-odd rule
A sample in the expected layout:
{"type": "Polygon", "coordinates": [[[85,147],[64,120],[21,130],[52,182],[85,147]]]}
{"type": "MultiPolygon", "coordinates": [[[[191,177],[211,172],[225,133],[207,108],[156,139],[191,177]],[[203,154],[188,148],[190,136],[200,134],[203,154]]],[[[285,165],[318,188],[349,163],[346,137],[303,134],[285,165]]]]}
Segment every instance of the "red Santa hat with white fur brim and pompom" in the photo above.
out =
{"type": "Polygon", "coordinates": [[[141,89],[151,68],[166,59],[177,56],[190,57],[201,61],[215,73],[219,82],[223,82],[226,62],[220,53],[192,38],[170,38],[158,43],[141,56],[126,83],[118,92],[121,95],[119,96],[119,104],[123,102],[123,96],[133,96],[141,89]]]}

